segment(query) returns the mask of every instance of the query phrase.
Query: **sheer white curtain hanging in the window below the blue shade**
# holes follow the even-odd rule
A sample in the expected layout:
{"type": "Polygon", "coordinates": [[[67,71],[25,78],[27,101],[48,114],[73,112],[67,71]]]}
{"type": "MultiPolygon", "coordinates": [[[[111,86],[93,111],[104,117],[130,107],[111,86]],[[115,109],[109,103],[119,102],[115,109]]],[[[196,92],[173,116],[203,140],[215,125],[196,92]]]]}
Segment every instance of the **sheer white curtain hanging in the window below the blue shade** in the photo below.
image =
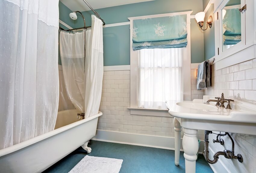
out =
{"type": "Polygon", "coordinates": [[[138,51],[138,107],[167,109],[166,100],[183,100],[182,48],[138,51]]]}

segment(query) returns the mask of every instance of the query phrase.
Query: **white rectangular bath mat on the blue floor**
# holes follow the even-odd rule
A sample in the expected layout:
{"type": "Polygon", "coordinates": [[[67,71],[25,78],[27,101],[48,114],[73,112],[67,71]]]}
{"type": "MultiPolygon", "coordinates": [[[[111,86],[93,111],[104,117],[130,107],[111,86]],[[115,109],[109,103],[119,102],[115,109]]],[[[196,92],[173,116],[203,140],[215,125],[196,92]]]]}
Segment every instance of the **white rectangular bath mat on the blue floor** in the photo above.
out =
{"type": "Polygon", "coordinates": [[[118,173],[122,159],[85,156],[69,173],[118,173]]]}

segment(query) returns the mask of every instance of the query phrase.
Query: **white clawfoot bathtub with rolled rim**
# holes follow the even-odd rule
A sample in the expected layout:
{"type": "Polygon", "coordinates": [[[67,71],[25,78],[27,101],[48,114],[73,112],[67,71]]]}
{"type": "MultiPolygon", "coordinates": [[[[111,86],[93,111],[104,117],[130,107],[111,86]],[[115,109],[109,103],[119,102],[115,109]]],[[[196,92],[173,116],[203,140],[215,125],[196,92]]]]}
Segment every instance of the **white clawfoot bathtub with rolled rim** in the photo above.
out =
{"type": "Polygon", "coordinates": [[[42,172],[92,139],[102,113],[80,121],[77,113],[60,111],[55,130],[0,150],[0,172],[42,172]]]}

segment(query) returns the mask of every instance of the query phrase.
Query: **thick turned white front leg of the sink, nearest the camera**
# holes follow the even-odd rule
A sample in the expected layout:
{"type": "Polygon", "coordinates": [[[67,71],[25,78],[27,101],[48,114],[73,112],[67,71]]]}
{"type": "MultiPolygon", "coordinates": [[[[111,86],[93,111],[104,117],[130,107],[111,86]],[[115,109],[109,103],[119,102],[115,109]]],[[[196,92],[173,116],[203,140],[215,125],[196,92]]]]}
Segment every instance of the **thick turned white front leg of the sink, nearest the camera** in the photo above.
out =
{"type": "Polygon", "coordinates": [[[184,128],[182,146],[184,150],[186,173],[195,173],[195,160],[198,151],[197,130],[184,128]]]}

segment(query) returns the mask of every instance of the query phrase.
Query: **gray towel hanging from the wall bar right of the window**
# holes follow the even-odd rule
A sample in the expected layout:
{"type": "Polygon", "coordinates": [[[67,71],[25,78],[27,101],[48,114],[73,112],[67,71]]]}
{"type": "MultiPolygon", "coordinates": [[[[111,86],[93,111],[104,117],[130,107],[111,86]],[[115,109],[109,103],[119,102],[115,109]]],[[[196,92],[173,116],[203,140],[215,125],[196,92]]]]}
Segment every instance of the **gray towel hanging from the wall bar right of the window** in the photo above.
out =
{"type": "Polygon", "coordinates": [[[204,61],[198,65],[197,70],[197,89],[206,89],[210,87],[210,64],[204,61]]]}

